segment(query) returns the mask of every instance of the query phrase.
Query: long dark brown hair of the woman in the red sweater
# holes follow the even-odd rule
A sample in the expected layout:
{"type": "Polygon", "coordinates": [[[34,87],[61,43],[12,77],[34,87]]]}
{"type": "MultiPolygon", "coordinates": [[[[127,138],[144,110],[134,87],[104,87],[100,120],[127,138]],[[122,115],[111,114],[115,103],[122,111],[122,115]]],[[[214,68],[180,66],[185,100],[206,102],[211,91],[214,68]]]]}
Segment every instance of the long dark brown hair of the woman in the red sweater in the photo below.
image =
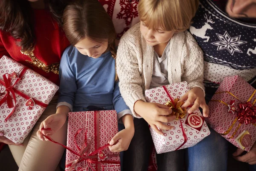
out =
{"type": "MultiPolygon", "coordinates": [[[[62,25],[62,13],[71,0],[48,0],[47,4],[52,17],[62,25]],[[48,2],[49,1],[49,2],[48,2]]],[[[0,30],[9,32],[22,50],[35,47],[33,11],[28,0],[0,0],[0,30]]]]}

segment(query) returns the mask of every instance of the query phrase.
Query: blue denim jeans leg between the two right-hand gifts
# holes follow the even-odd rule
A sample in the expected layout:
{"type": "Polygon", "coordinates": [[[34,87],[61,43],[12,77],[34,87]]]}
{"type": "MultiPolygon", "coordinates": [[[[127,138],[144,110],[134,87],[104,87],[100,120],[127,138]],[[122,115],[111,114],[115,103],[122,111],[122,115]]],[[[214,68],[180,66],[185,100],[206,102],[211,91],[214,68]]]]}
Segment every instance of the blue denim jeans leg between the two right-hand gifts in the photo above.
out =
{"type": "Polygon", "coordinates": [[[187,171],[226,171],[228,141],[213,129],[211,134],[185,151],[187,171]]]}

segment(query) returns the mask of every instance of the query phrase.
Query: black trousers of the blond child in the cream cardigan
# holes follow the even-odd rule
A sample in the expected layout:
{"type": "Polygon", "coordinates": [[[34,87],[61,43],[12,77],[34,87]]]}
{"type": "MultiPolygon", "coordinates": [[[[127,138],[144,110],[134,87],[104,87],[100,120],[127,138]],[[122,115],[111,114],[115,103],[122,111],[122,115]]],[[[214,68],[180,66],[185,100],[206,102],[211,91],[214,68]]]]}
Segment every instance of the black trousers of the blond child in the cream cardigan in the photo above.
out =
{"type": "MultiPolygon", "coordinates": [[[[124,151],[123,171],[147,171],[152,137],[148,129],[148,123],[143,119],[134,118],[134,137],[127,151],[124,151]]],[[[181,171],[183,168],[184,151],[172,151],[157,154],[159,171],[181,171]]]]}

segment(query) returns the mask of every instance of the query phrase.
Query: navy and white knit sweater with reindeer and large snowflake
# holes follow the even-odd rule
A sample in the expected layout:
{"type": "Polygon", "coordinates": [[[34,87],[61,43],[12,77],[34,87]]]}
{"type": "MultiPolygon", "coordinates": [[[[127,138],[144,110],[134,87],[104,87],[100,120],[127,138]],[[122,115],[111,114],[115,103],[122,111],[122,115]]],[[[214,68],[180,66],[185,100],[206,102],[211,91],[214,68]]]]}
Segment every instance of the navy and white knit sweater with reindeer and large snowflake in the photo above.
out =
{"type": "Polygon", "coordinates": [[[226,76],[239,75],[256,88],[256,23],[230,18],[212,0],[200,0],[193,22],[189,31],[204,52],[207,100],[226,76]]]}

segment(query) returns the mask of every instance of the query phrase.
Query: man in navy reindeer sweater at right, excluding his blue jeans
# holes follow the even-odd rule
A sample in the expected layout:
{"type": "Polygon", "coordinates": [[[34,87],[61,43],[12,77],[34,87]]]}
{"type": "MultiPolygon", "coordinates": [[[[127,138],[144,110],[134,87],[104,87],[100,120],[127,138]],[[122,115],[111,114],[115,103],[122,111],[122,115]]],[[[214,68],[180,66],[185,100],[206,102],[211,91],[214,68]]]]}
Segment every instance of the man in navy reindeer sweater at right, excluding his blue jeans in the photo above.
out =
{"type": "MultiPolygon", "coordinates": [[[[200,0],[189,31],[204,52],[204,83],[209,101],[226,76],[240,75],[256,88],[256,0],[200,0]]],[[[227,154],[227,144],[220,144],[227,154]]],[[[256,143],[233,157],[256,171],[256,143]]]]}

